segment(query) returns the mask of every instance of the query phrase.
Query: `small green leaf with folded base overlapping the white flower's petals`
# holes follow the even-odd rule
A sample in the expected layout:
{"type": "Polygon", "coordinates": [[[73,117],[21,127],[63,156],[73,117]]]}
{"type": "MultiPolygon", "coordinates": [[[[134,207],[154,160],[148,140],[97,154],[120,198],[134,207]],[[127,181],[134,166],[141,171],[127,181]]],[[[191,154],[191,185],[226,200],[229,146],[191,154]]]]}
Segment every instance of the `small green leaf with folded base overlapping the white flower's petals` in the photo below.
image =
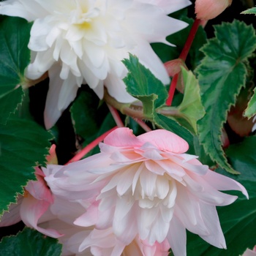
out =
{"type": "Polygon", "coordinates": [[[167,90],[162,82],[155,78],[149,69],[140,64],[136,56],[129,54],[129,59],[122,61],[128,69],[124,83],[127,91],[143,103],[143,113],[151,119],[156,108],[165,104],[167,90]]]}

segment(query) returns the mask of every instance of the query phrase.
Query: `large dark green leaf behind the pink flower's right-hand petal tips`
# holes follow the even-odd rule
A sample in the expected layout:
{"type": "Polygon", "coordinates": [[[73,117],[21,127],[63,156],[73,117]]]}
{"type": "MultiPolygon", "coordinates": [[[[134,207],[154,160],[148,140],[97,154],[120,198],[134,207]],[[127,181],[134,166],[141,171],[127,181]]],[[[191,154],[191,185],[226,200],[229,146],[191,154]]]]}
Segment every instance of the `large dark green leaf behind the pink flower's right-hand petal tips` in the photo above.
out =
{"type": "MultiPolygon", "coordinates": [[[[239,176],[217,169],[218,173],[236,179],[246,187],[249,200],[239,196],[235,203],[230,206],[217,208],[222,230],[227,243],[227,250],[217,249],[207,244],[199,236],[188,233],[187,254],[188,256],[234,256],[241,255],[247,247],[252,248],[256,244],[256,137],[246,138],[242,143],[232,145],[227,149],[227,157],[239,176]]],[[[234,193],[234,192],[233,192],[234,193]]]]}

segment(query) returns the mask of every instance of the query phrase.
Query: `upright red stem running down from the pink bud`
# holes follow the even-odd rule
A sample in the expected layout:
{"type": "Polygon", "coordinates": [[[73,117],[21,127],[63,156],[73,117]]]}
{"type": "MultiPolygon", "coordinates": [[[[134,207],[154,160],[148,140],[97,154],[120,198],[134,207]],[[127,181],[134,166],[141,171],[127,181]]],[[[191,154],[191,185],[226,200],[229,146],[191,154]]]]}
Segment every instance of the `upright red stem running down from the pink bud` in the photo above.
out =
{"type": "MultiPolygon", "coordinates": [[[[178,57],[179,59],[182,59],[183,61],[186,61],[187,59],[187,55],[189,53],[189,50],[191,48],[192,42],[195,39],[195,34],[197,34],[197,29],[200,26],[201,20],[200,19],[195,19],[194,23],[192,24],[192,28],[189,31],[189,36],[187,37],[187,41],[185,42],[184,48],[181,51],[180,56],[178,57]]],[[[173,79],[170,83],[170,89],[169,89],[169,96],[166,100],[166,105],[170,106],[173,102],[173,96],[174,96],[174,92],[176,89],[176,85],[178,82],[178,75],[179,73],[177,73],[176,75],[173,76],[173,79]]]]}

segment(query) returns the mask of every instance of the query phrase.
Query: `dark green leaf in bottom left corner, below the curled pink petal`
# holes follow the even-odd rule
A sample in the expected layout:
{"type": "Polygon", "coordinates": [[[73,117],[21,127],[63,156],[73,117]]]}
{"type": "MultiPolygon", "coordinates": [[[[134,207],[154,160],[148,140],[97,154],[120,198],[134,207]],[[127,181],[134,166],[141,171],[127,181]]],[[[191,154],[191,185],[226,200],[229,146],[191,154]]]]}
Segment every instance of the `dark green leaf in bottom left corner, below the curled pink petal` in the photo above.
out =
{"type": "Polygon", "coordinates": [[[0,243],[0,255],[4,256],[60,256],[58,240],[44,236],[37,230],[25,227],[17,236],[4,237],[0,243]]]}

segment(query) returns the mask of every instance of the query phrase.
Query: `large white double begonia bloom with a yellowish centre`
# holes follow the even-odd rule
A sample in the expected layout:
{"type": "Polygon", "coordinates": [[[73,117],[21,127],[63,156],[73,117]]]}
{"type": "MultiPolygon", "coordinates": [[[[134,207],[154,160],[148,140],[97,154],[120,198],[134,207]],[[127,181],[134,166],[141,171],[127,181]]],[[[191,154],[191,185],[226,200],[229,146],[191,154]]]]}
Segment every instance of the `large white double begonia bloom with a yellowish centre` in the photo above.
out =
{"type": "MultiPolygon", "coordinates": [[[[132,102],[123,82],[127,69],[121,62],[129,53],[154,75],[169,83],[164,65],[151,42],[184,29],[187,23],[170,18],[189,0],[7,0],[0,14],[34,21],[26,76],[36,80],[48,71],[45,127],[56,123],[78,88],[87,83],[100,99],[104,86],[119,102],[132,102]]],[[[170,44],[169,44],[170,45],[170,44]]]]}

